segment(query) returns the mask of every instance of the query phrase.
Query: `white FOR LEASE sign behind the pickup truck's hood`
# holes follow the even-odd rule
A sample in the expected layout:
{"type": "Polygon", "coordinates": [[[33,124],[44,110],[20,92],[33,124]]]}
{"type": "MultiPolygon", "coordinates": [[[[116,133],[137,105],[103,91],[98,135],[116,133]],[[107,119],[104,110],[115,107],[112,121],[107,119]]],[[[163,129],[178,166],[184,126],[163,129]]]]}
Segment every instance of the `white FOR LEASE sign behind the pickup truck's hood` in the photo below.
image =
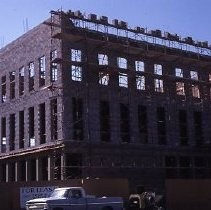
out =
{"type": "Polygon", "coordinates": [[[20,206],[25,208],[26,201],[35,198],[47,198],[51,195],[56,186],[46,187],[21,187],[20,188],[20,206]]]}

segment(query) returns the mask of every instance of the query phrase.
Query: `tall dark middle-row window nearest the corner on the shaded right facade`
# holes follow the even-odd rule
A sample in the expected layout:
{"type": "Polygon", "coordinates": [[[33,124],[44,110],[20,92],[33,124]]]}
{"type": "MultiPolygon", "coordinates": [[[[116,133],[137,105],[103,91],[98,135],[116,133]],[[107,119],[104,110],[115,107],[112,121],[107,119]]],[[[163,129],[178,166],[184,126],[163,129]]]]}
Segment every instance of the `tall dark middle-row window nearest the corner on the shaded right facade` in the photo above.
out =
{"type": "Polygon", "coordinates": [[[73,116],[73,140],[84,139],[84,120],[83,120],[83,100],[81,98],[72,98],[72,116],[73,116]]]}

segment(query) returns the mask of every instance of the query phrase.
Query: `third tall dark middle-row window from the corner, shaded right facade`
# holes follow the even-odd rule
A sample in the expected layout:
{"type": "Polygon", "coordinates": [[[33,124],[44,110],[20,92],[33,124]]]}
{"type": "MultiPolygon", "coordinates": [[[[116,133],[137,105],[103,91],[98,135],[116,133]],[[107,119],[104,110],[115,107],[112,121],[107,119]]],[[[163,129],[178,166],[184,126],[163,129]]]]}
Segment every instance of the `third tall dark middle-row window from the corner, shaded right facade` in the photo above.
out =
{"type": "Polygon", "coordinates": [[[130,142],[130,112],[126,104],[120,104],[120,138],[122,142],[130,142]]]}

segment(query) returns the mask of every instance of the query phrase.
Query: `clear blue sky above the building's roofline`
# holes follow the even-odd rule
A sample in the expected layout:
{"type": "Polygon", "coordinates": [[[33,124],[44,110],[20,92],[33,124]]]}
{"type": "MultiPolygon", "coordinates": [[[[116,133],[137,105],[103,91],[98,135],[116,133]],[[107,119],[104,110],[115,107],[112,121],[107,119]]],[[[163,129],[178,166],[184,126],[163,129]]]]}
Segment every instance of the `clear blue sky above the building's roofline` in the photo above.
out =
{"type": "Polygon", "coordinates": [[[50,10],[81,10],[211,44],[211,0],[0,0],[0,47],[47,19],[50,10]],[[27,21],[26,21],[27,20],[27,21]]]}

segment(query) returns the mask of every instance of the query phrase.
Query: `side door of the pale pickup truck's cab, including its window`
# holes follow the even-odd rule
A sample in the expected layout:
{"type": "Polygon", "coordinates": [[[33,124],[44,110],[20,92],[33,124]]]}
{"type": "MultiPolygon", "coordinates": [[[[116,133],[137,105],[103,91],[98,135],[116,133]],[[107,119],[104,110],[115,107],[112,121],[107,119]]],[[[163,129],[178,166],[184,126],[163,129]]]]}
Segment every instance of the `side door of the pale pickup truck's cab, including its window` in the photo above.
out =
{"type": "Polygon", "coordinates": [[[86,198],[78,189],[72,189],[69,193],[70,208],[68,210],[86,210],[86,198]]]}

